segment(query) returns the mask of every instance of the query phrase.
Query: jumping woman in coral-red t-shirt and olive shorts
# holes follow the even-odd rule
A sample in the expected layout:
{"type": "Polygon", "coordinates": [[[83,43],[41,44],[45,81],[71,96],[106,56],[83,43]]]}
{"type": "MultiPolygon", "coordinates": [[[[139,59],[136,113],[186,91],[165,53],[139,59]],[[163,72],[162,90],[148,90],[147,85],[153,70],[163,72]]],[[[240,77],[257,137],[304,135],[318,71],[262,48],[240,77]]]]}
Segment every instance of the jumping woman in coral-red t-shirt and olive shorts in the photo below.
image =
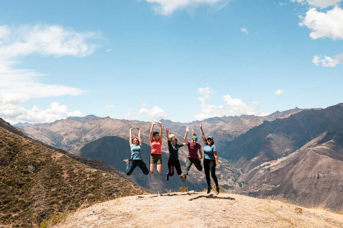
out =
{"type": "Polygon", "coordinates": [[[150,173],[154,172],[154,167],[156,164],[157,172],[162,172],[162,123],[157,121],[159,124],[159,133],[157,131],[153,132],[155,122],[152,122],[152,126],[150,129],[150,146],[151,146],[151,153],[150,153],[150,173]]]}

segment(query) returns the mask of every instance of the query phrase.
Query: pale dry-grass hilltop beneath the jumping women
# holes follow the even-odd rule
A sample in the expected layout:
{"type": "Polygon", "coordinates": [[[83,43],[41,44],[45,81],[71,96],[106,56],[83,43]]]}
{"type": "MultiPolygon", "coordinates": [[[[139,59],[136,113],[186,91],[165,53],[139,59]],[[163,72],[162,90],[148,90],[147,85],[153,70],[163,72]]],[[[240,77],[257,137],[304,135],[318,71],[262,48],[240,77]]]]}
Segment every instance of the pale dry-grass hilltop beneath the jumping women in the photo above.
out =
{"type": "Polygon", "coordinates": [[[55,227],[342,227],[343,215],[296,208],[236,194],[175,192],[98,203],[55,227]]]}

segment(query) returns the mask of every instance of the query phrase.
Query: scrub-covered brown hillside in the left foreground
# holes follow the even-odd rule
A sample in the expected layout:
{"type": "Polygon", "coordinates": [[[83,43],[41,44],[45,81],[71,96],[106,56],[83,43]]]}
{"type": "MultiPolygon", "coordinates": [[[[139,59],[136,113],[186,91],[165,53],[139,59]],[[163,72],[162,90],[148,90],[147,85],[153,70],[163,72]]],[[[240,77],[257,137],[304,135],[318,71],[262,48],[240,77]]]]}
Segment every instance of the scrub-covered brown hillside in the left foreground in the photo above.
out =
{"type": "MultiPolygon", "coordinates": [[[[15,129],[2,119],[0,125],[15,129]]],[[[118,174],[93,169],[16,133],[0,127],[2,225],[37,227],[51,215],[146,193],[118,174]]]]}

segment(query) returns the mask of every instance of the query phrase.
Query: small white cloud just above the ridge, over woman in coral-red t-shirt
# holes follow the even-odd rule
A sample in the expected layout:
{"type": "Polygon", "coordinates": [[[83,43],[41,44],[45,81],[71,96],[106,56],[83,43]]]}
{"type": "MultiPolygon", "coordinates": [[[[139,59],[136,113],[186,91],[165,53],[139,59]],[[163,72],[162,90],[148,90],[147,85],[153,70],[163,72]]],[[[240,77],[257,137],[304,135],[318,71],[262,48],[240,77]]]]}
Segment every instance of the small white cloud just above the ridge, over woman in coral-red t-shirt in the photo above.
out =
{"type": "Polygon", "coordinates": [[[137,114],[135,113],[127,113],[124,115],[125,119],[145,119],[146,121],[157,121],[160,119],[165,119],[167,117],[167,113],[159,108],[158,106],[154,106],[152,109],[144,109],[141,108],[137,114]]]}

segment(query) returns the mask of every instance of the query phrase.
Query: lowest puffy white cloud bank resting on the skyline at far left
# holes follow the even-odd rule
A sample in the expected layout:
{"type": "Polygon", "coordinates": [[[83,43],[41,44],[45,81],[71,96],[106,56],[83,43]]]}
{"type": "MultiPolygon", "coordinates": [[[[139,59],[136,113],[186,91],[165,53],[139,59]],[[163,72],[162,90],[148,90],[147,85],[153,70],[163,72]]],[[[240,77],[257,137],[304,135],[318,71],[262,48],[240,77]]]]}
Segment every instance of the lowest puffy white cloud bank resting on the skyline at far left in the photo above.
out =
{"type": "Polygon", "coordinates": [[[56,119],[65,119],[69,116],[83,116],[80,110],[68,112],[66,105],[57,102],[51,103],[46,110],[41,110],[33,106],[31,110],[26,110],[17,104],[0,104],[0,116],[11,124],[18,122],[28,123],[50,123],[56,119]]]}

